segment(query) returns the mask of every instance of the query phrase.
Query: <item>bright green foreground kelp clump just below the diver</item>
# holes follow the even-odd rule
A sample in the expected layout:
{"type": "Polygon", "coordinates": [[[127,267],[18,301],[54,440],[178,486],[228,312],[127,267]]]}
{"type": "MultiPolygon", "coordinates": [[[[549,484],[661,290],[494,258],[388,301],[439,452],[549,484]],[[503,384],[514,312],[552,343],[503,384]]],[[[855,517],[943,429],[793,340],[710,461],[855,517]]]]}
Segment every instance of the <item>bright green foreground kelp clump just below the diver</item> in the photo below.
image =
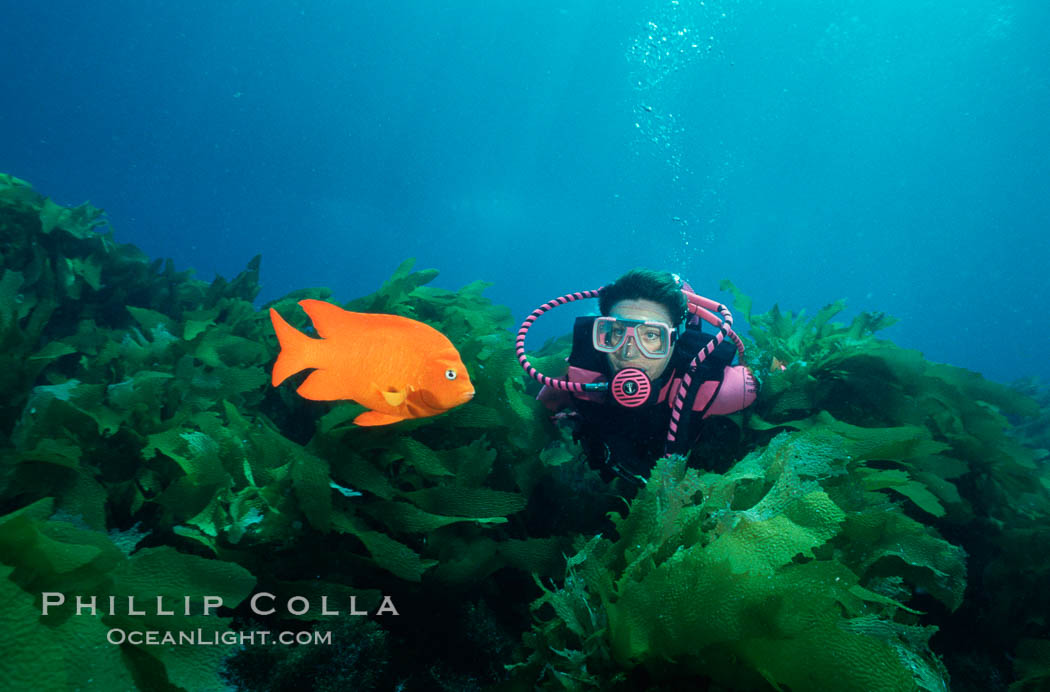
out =
{"type": "Polygon", "coordinates": [[[620,538],[583,546],[537,601],[559,616],[523,666],[565,689],[630,689],[644,666],[728,689],[946,690],[936,628],[909,622],[882,562],[957,607],[963,552],[865,489],[858,446],[785,434],[722,476],[659,461],[620,538]]]}

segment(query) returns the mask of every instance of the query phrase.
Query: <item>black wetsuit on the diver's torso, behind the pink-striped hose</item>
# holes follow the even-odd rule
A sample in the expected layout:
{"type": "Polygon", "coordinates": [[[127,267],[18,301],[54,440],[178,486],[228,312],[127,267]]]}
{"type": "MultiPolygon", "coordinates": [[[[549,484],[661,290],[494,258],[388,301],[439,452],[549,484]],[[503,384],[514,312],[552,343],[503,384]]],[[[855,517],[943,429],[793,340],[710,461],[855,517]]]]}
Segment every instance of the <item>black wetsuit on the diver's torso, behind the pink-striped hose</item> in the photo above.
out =
{"type": "MultiPolygon", "coordinates": [[[[608,357],[593,347],[593,323],[594,317],[576,319],[569,364],[611,378],[608,357]]],[[[658,396],[671,378],[680,377],[686,372],[696,353],[713,338],[712,335],[702,333],[698,326],[687,327],[675,343],[667,370],[653,382],[649,401],[636,408],[621,406],[608,393],[603,395],[603,402],[572,398],[572,406],[578,413],[572,437],[583,445],[588,462],[602,473],[603,478],[609,480],[620,476],[637,483],[634,477],[648,478],[656,459],[666,450],[685,454],[691,448],[706,422],[701,421],[704,412],[682,416],[675,444],[667,449],[671,406],[667,401],[659,401],[658,396]]],[[[687,396],[686,412],[692,408],[696,390],[701,383],[710,380],[721,382],[726,366],[732,363],[735,356],[735,345],[727,340],[719,343],[700,363],[692,378],[692,391],[687,396]]],[[[711,401],[715,396],[717,392],[711,397],[711,401]]]]}

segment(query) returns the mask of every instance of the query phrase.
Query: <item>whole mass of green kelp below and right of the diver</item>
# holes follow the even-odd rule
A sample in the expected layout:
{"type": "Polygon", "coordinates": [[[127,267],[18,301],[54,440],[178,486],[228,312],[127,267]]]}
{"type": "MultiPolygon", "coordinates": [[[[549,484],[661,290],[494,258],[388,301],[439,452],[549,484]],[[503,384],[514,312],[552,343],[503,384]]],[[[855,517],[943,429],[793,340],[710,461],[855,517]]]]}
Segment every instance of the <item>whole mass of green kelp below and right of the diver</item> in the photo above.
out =
{"type": "Polygon", "coordinates": [[[753,452],[721,475],[662,460],[616,534],[540,582],[516,676],[944,690],[950,668],[959,689],[993,689],[1016,650],[1041,678],[1043,639],[1025,637],[1050,613],[1048,473],[1009,434],[1037,405],[876,338],[884,315],[751,315],[733,290],[753,366],[789,363],[737,417],[753,452]]]}

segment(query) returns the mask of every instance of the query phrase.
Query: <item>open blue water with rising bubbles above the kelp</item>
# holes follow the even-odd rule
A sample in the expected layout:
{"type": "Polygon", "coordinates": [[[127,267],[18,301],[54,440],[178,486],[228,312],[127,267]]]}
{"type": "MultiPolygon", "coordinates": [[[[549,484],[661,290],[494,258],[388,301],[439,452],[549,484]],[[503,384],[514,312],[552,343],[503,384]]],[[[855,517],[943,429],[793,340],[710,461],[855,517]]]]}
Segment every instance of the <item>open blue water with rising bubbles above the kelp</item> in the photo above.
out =
{"type": "Polygon", "coordinates": [[[203,278],[344,300],[416,256],[524,318],[666,268],[1050,378],[1050,3],[2,9],[0,171],[203,278]]]}

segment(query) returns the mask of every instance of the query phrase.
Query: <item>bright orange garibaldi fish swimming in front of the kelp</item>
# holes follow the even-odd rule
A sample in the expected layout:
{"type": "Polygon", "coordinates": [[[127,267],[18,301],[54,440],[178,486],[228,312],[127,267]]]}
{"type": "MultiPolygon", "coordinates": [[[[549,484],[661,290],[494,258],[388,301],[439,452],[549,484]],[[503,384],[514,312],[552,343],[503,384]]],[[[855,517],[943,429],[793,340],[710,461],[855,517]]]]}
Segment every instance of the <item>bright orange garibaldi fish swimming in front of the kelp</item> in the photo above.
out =
{"type": "Polygon", "coordinates": [[[448,338],[423,322],[349,312],[323,300],[299,305],[321,338],[298,331],[270,309],[280,353],[273,385],[313,368],[296,392],[315,401],[353,399],[366,411],[358,425],[436,416],[474,397],[474,385],[448,338]]]}

